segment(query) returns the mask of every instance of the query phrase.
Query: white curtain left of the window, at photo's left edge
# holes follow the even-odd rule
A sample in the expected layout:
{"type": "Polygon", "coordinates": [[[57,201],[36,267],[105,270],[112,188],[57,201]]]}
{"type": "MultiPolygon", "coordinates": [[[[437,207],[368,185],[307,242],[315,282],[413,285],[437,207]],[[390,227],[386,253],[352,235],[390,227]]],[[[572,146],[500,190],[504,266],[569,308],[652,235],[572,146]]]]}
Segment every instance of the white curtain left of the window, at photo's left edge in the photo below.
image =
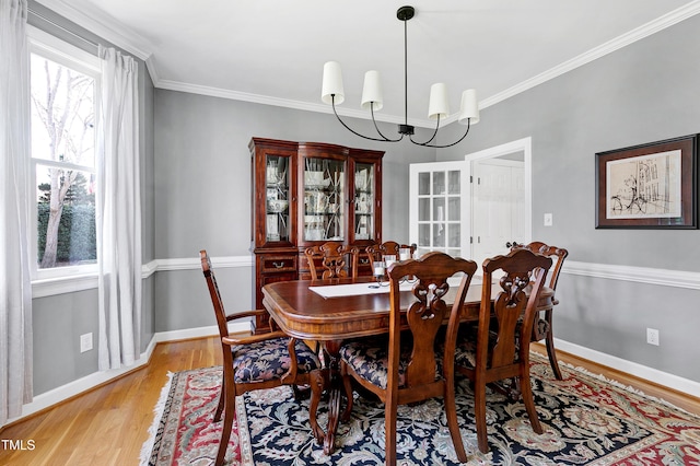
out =
{"type": "Polygon", "coordinates": [[[0,0],[0,426],[32,400],[26,0],[0,0]]]}

